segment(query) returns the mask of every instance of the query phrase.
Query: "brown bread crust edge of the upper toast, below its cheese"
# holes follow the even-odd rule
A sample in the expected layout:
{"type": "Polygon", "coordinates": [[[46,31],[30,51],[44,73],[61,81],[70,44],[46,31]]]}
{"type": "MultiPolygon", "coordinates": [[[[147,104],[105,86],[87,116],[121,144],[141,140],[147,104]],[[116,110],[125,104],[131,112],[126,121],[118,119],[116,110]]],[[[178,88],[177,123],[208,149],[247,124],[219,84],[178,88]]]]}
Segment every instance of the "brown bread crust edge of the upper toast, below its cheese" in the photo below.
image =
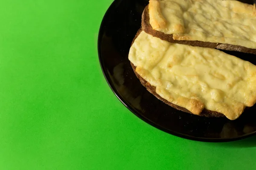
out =
{"type": "Polygon", "coordinates": [[[164,34],[163,32],[156,31],[152,28],[152,26],[149,23],[148,6],[146,6],[143,11],[141,26],[143,31],[145,31],[146,33],[151,34],[154,37],[158,37],[161,40],[165,40],[173,43],[256,54],[256,49],[246,48],[239,45],[230,45],[230,44],[221,44],[221,43],[215,43],[215,42],[203,42],[203,41],[173,40],[172,35],[164,34]]]}

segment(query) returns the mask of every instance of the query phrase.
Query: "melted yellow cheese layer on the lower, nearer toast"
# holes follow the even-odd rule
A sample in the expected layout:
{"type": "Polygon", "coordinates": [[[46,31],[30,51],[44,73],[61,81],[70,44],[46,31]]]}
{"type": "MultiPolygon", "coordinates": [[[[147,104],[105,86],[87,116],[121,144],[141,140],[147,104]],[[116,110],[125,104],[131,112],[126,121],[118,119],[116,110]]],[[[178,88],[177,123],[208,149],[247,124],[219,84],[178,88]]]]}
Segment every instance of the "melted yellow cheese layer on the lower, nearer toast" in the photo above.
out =
{"type": "Polygon", "coordinates": [[[256,102],[256,66],[222,51],[170,43],[142,31],[128,58],[157,94],[194,114],[206,108],[233,120],[256,102]]]}

